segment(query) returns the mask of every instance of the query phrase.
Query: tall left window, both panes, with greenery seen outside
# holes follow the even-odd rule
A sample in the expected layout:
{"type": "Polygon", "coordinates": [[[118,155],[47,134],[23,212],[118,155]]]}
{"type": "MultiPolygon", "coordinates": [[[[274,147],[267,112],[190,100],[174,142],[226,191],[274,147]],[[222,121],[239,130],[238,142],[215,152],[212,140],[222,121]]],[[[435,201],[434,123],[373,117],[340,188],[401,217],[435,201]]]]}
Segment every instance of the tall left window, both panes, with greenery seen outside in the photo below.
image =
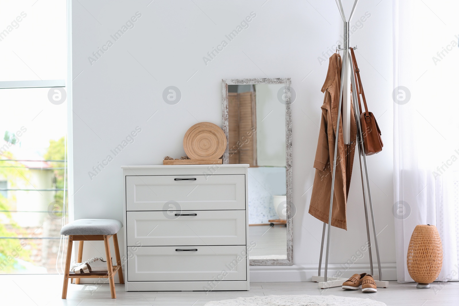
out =
{"type": "Polygon", "coordinates": [[[0,3],[0,274],[62,272],[66,1],[0,3]]]}

